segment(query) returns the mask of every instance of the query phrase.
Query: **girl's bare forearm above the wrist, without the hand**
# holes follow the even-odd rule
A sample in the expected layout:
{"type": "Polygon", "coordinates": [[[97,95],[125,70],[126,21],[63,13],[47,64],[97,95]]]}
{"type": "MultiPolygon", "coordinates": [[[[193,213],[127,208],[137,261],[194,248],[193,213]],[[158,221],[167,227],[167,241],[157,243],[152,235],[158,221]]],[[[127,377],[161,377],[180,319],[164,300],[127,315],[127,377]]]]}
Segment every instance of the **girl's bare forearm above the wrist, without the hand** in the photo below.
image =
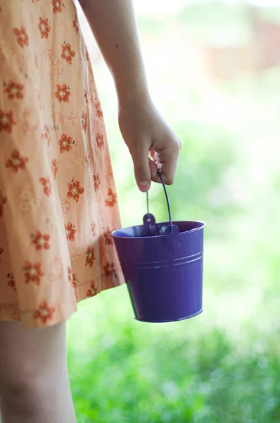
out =
{"type": "Polygon", "coordinates": [[[120,104],[148,96],[132,0],[79,0],[115,80],[120,104]]]}

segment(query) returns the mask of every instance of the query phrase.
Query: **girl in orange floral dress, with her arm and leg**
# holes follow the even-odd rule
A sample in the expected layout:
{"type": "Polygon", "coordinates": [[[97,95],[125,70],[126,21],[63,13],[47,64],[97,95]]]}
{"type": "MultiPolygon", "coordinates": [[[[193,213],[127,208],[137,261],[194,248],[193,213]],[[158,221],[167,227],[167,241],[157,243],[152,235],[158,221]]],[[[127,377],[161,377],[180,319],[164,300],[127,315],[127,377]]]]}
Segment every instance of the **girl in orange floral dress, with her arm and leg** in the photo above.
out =
{"type": "MultiPolygon", "coordinates": [[[[139,190],[172,184],[181,144],[148,94],[132,0],[80,0],[112,72],[139,190]],[[149,156],[151,158],[149,158],[149,156]]],[[[103,114],[73,0],[0,0],[3,423],[73,423],[65,321],[119,286],[103,114]]]]}

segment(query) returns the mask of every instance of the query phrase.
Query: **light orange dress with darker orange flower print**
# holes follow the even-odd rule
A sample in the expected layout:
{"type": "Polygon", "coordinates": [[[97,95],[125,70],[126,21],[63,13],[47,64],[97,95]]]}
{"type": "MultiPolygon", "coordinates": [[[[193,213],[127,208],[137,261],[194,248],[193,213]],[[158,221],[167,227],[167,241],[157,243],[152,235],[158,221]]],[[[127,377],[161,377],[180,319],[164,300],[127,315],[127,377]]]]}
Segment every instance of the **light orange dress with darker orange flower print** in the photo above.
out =
{"type": "Polygon", "coordinates": [[[123,283],[103,114],[73,0],[0,0],[0,321],[123,283]]]}

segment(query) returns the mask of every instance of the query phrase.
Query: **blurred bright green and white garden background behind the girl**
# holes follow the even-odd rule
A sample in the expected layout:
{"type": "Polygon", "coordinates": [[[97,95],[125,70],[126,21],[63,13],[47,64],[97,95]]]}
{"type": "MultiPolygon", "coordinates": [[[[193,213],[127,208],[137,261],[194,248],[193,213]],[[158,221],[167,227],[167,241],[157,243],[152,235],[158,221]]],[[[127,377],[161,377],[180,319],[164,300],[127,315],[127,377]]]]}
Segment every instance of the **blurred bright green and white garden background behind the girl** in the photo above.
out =
{"type": "MultiPolygon", "coordinates": [[[[135,321],[125,286],[68,322],[78,423],[280,422],[280,1],[135,0],[152,97],[182,140],[174,220],[206,221],[204,312],[135,321]]],[[[146,197],[87,22],[123,226],[146,197]]],[[[151,211],[167,220],[163,190],[151,211]]]]}

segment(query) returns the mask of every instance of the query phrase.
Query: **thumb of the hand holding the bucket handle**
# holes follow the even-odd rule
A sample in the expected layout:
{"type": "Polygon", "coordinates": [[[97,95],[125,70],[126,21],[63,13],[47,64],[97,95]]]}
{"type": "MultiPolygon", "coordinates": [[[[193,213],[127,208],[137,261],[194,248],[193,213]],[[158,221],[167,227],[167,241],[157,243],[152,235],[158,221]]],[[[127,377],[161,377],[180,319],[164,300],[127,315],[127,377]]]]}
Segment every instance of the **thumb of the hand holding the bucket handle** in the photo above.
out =
{"type": "Polygon", "coordinates": [[[151,170],[148,159],[148,149],[144,145],[135,146],[130,149],[134,164],[134,175],[138,188],[146,192],[151,187],[151,170]]]}

